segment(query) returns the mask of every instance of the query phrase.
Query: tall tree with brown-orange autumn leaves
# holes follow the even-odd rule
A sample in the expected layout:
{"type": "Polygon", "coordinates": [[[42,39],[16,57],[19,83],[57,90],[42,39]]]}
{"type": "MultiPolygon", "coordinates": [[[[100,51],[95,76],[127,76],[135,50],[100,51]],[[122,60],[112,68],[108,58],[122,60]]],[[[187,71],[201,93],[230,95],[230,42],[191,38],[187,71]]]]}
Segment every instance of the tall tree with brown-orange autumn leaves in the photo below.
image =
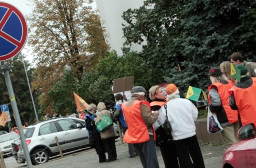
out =
{"type": "Polygon", "coordinates": [[[40,105],[53,112],[48,92],[62,78],[65,65],[78,80],[108,50],[100,18],[91,0],[33,0],[30,38],[37,68],[33,88],[40,105]]]}

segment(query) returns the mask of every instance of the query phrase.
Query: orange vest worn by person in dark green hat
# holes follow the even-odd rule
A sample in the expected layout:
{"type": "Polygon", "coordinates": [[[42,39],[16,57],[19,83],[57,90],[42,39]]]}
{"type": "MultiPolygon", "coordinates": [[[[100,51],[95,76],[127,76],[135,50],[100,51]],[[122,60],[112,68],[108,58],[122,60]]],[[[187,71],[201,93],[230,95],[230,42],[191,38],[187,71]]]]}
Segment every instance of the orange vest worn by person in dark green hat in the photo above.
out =
{"type": "Polygon", "coordinates": [[[238,115],[241,126],[254,123],[256,125],[256,78],[252,78],[252,86],[249,88],[238,88],[233,86],[228,93],[232,95],[238,107],[238,115]]]}

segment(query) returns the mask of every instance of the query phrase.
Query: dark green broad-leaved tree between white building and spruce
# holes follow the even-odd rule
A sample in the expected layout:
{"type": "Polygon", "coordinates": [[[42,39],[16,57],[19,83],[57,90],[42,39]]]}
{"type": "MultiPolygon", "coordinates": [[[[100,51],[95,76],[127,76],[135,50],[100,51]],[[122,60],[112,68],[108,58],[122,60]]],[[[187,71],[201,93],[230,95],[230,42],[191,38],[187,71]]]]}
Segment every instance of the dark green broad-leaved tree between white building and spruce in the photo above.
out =
{"type": "Polygon", "coordinates": [[[172,43],[179,34],[178,18],[183,4],[176,0],[146,0],[140,8],[129,9],[122,15],[127,22],[123,25],[124,45],[146,42],[140,56],[150,73],[150,85],[163,82],[165,69],[176,66],[172,43]]]}

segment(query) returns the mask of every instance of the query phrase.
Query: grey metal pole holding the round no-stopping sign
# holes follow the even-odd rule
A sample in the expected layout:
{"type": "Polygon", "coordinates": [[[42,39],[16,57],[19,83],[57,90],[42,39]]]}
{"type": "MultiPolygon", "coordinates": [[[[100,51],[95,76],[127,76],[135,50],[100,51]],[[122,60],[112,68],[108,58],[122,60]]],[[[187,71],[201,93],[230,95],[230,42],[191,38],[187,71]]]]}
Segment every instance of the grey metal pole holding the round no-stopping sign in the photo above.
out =
{"type": "Polygon", "coordinates": [[[32,163],[30,160],[30,156],[29,156],[29,152],[28,152],[28,147],[26,145],[26,139],[25,139],[25,135],[22,129],[22,124],[21,124],[21,120],[20,120],[20,114],[18,111],[18,107],[16,104],[16,100],[15,100],[15,96],[14,96],[14,92],[12,89],[12,82],[11,82],[11,78],[10,78],[10,74],[9,74],[9,69],[10,67],[7,66],[4,62],[2,62],[2,70],[4,71],[4,78],[5,78],[5,82],[6,82],[6,86],[7,86],[7,90],[9,93],[9,97],[10,97],[10,101],[11,101],[11,105],[12,105],[12,110],[16,119],[16,124],[18,127],[18,131],[20,133],[20,141],[21,141],[21,145],[23,147],[24,150],[24,154],[25,154],[25,158],[26,158],[26,163],[28,168],[32,168],[32,163]]]}

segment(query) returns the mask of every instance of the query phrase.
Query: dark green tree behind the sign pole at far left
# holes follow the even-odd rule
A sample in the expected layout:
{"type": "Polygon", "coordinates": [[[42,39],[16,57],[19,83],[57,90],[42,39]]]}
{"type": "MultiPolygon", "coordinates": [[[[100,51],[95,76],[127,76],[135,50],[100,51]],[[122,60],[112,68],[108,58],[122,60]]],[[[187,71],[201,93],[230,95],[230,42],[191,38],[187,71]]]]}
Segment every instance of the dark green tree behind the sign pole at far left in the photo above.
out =
{"type": "MultiPolygon", "coordinates": [[[[32,124],[34,123],[34,119],[36,117],[35,117],[32,99],[30,96],[29,88],[28,88],[26,74],[24,71],[24,65],[22,63],[23,60],[24,60],[24,56],[17,55],[16,57],[10,59],[9,61],[6,61],[6,64],[11,68],[11,70],[9,71],[10,78],[12,81],[12,87],[14,90],[14,95],[16,98],[18,111],[20,113],[22,124],[24,124],[24,121],[27,121],[29,124],[32,124]]],[[[33,68],[28,68],[30,67],[30,64],[28,63],[28,61],[25,61],[25,65],[27,68],[28,79],[29,81],[32,81],[35,77],[33,74],[33,68]]],[[[16,125],[14,117],[12,117],[13,111],[12,111],[12,106],[10,104],[10,98],[9,98],[8,90],[4,80],[4,75],[2,75],[1,78],[2,80],[0,80],[0,93],[2,93],[2,95],[0,96],[0,102],[1,104],[8,104],[11,119],[12,119],[12,125],[16,125]]],[[[32,94],[34,97],[35,105],[38,108],[38,105],[37,105],[38,93],[33,92],[32,94]]]]}

